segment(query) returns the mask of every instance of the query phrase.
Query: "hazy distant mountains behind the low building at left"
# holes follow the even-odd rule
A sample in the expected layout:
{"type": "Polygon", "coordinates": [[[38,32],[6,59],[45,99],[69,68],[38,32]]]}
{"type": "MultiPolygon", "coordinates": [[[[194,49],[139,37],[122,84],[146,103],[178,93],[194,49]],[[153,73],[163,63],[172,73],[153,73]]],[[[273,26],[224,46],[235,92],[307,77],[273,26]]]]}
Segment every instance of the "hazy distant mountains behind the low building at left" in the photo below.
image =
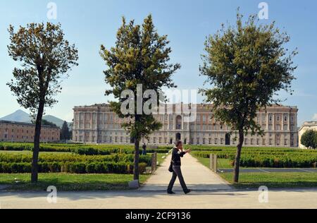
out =
{"type": "MultiPolygon", "coordinates": [[[[51,116],[51,115],[43,116],[43,119],[56,124],[56,126],[58,126],[60,128],[63,126],[63,123],[64,123],[64,121],[62,119],[58,119],[55,116],[51,116]]],[[[18,121],[18,122],[26,122],[26,123],[32,122],[32,118],[30,117],[30,114],[27,114],[25,111],[22,111],[22,110],[15,111],[12,114],[9,114],[7,116],[0,118],[0,120],[18,121]]],[[[68,123],[68,126],[69,125],[70,125],[70,123],[68,123]]]]}

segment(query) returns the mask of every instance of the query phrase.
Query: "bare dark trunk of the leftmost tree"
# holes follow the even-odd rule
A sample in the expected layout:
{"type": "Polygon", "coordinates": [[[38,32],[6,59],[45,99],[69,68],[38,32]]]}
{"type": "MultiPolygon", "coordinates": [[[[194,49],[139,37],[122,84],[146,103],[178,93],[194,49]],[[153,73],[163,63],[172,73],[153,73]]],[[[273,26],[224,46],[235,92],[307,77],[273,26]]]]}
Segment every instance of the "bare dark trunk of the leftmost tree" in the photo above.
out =
{"type": "Polygon", "coordinates": [[[37,110],[37,120],[35,123],[34,149],[33,149],[32,169],[31,169],[32,183],[37,183],[37,180],[38,180],[39,141],[40,141],[41,128],[42,128],[43,112],[44,112],[44,100],[40,100],[39,109],[37,110]]]}

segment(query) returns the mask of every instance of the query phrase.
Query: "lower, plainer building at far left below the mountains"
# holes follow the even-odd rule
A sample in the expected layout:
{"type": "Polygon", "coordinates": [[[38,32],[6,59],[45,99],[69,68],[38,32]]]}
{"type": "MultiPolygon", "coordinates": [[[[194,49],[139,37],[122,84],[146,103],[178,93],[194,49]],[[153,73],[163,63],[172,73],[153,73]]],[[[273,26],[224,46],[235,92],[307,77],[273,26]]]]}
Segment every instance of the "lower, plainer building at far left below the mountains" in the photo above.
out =
{"type": "MultiPolygon", "coordinates": [[[[61,130],[58,127],[42,126],[40,141],[42,143],[54,143],[60,139],[61,130]]],[[[35,135],[35,124],[0,121],[0,141],[32,143],[35,135]]]]}

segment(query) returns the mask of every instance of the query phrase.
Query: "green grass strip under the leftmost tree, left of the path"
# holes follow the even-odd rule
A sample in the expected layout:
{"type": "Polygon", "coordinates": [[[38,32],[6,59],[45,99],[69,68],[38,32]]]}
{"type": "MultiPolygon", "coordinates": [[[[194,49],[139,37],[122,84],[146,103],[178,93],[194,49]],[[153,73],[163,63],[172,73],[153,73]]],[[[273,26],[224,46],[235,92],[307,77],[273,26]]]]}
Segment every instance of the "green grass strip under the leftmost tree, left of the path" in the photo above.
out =
{"type": "MultiPolygon", "coordinates": [[[[149,176],[140,175],[140,183],[149,176]]],[[[51,173],[39,174],[39,182],[33,184],[30,174],[0,174],[0,185],[8,185],[8,191],[46,191],[48,186],[56,186],[58,191],[118,191],[128,190],[132,179],[131,174],[51,173]]]]}

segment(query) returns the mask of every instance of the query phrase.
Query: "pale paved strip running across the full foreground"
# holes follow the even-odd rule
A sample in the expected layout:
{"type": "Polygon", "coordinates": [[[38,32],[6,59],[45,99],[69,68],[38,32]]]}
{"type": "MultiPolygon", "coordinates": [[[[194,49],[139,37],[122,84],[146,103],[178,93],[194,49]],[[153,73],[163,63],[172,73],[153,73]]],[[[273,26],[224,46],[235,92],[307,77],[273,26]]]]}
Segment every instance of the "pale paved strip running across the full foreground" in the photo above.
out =
{"type": "Polygon", "coordinates": [[[268,203],[259,202],[259,191],[209,191],[168,195],[154,191],[59,192],[57,203],[49,193],[0,193],[0,207],[23,209],[204,209],[204,208],[317,208],[317,189],[270,190],[268,203]]]}

